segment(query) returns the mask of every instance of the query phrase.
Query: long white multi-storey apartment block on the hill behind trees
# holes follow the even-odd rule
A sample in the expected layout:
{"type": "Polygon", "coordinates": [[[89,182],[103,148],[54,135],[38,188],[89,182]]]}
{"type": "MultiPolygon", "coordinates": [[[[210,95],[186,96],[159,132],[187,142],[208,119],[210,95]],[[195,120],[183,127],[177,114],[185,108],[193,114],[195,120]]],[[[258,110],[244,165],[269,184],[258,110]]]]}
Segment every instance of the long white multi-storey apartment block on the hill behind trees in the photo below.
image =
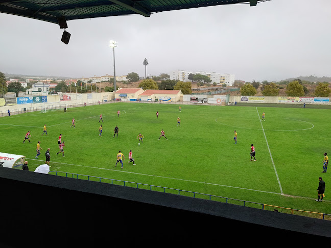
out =
{"type": "Polygon", "coordinates": [[[216,72],[205,72],[205,71],[185,71],[185,70],[174,70],[170,73],[171,80],[179,80],[182,82],[188,82],[188,75],[190,74],[201,74],[207,76],[212,83],[226,84],[227,86],[232,86],[234,84],[234,74],[221,74],[216,72]]]}

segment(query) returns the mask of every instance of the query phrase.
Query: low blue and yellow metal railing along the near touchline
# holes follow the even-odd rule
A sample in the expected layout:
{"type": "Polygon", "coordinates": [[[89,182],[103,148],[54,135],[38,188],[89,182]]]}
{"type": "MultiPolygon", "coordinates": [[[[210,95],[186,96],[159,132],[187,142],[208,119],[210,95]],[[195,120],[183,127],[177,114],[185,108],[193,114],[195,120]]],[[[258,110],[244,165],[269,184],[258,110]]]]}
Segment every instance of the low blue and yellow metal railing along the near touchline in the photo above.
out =
{"type": "Polygon", "coordinates": [[[173,188],[150,185],[150,184],[135,183],[135,182],[129,182],[129,181],[123,181],[123,180],[117,180],[117,179],[88,176],[88,175],[82,175],[82,174],[64,172],[64,171],[57,171],[57,170],[50,171],[50,173],[55,173],[56,176],[62,176],[62,177],[65,176],[67,178],[82,179],[82,180],[88,180],[88,181],[94,181],[94,182],[100,182],[100,183],[110,183],[110,184],[116,184],[116,185],[122,185],[122,186],[128,186],[128,187],[135,187],[135,188],[139,188],[139,189],[153,190],[153,191],[158,191],[158,192],[163,192],[163,193],[178,194],[178,195],[189,196],[189,197],[193,197],[193,198],[205,199],[205,200],[210,200],[210,201],[217,201],[217,202],[241,205],[244,207],[258,208],[258,209],[269,210],[269,211],[277,210],[277,212],[283,212],[283,213],[288,213],[288,214],[297,214],[297,215],[306,216],[306,217],[331,220],[331,214],[316,213],[316,212],[297,210],[297,209],[291,209],[291,208],[283,208],[283,207],[278,207],[278,206],[273,206],[273,205],[268,205],[268,204],[263,204],[263,203],[255,203],[255,202],[250,202],[250,201],[233,199],[233,198],[224,197],[224,196],[205,194],[205,193],[193,192],[193,191],[182,190],[182,189],[173,189],[173,188]]]}

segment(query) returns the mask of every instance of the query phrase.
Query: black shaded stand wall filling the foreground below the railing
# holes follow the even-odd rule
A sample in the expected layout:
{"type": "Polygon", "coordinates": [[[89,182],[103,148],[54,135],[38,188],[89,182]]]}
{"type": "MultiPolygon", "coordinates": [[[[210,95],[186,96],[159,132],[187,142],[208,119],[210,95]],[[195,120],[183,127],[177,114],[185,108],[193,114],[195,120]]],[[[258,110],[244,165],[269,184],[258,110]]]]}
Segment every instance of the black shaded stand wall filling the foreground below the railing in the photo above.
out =
{"type": "Polygon", "coordinates": [[[327,220],[31,171],[0,168],[0,186],[1,247],[288,246],[331,237],[327,220]]]}

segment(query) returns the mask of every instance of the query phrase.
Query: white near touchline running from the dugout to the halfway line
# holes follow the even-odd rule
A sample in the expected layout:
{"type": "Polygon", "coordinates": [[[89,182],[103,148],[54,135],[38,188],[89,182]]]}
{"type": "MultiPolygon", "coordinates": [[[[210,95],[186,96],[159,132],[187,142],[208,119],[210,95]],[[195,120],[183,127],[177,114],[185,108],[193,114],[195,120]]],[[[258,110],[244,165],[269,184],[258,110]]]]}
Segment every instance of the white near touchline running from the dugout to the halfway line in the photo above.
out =
{"type": "MultiPolygon", "coordinates": [[[[27,158],[27,159],[29,159],[29,158],[27,158]]],[[[38,160],[38,159],[29,159],[29,160],[38,160]]],[[[148,177],[155,177],[155,178],[165,178],[165,179],[172,179],[172,180],[185,181],[185,182],[191,182],[191,183],[201,183],[201,184],[208,184],[208,185],[221,186],[221,187],[227,187],[227,188],[243,189],[243,190],[249,190],[249,191],[256,191],[256,192],[269,193],[269,194],[279,194],[280,195],[280,193],[276,193],[276,192],[269,192],[269,191],[263,191],[263,190],[257,190],[257,189],[247,189],[247,188],[241,188],[241,187],[235,187],[235,186],[229,186],[229,185],[222,185],[222,184],[216,184],[216,183],[206,183],[206,182],[199,182],[199,181],[186,180],[186,179],[180,179],[180,178],[170,178],[170,177],[163,177],[163,176],[148,175],[148,174],[136,173],[136,172],[131,172],[131,171],[123,171],[123,170],[116,170],[116,169],[99,168],[99,167],[92,167],[92,166],[78,165],[78,164],[67,164],[67,163],[60,163],[60,162],[51,162],[51,163],[65,164],[65,165],[74,165],[74,166],[87,167],[87,168],[92,168],[92,169],[111,170],[111,171],[123,172],[123,173],[130,173],[130,174],[135,174],[135,175],[140,175],[140,176],[148,176],[148,177]]],[[[72,172],[70,172],[70,173],[72,173],[72,172]]],[[[72,173],[72,174],[75,174],[75,173],[72,173]]]]}

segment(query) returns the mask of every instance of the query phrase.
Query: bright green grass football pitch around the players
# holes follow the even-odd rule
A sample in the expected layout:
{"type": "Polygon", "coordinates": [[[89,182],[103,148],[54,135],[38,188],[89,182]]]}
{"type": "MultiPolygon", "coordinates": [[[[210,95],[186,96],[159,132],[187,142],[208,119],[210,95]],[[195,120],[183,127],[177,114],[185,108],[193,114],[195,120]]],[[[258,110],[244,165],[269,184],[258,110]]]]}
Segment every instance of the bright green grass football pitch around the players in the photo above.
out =
{"type": "Polygon", "coordinates": [[[1,133],[8,137],[1,142],[0,151],[25,155],[32,171],[44,163],[49,147],[52,170],[331,214],[327,190],[331,170],[321,173],[323,153],[329,152],[331,143],[329,110],[309,106],[183,105],[179,112],[178,105],[114,103],[70,108],[67,113],[26,113],[0,118],[1,133]],[[261,123],[263,111],[266,121],[261,123]],[[103,137],[98,136],[101,113],[103,137]],[[177,127],[178,116],[181,127],[177,127]],[[70,128],[73,117],[75,129],[70,128]],[[48,136],[41,136],[44,124],[48,136]],[[119,137],[113,138],[116,125],[119,137]],[[161,129],[168,140],[158,140],[161,129]],[[29,130],[32,143],[23,144],[29,130]],[[56,155],[60,133],[65,157],[56,155]],[[139,133],[145,137],[140,145],[139,133]],[[34,159],[38,140],[43,148],[39,161],[34,159]],[[251,143],[256,162],[249,161],[251,143]],[[128,165],[130,149],[136,166],[128,165]],[[120,164],[114,167],[119,150],[125,156],[124,169],[120,164]],[[314,201],[320,176],[326,182],[323,203],[314,201]]]}

